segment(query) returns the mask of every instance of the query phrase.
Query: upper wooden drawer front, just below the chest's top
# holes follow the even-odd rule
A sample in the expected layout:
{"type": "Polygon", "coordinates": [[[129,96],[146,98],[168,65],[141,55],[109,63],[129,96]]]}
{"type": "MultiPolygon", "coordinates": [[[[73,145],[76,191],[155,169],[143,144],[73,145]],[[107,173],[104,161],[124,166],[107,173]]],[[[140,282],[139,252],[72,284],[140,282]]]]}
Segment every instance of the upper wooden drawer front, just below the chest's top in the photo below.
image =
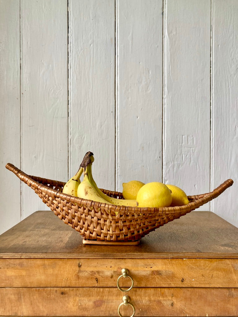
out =
{"type": "Polygon", "coordinates": [[[237,259],[0,259],[0,287],[238,287],[237,259]],[[121,278],[121,287],[131,285],[121,278]]]}

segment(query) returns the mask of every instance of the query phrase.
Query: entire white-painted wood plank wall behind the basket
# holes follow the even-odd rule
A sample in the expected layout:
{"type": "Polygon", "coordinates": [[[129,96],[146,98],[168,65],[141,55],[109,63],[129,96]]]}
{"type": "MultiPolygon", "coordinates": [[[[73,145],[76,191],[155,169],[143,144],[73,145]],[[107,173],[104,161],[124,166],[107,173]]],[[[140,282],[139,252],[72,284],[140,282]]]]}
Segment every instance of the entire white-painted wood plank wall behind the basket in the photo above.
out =
{"type": "Polygon", "coordinates": [[[87,151],[107,189],[233,178],[200,209],[238,226],[237,25],[236,0],[0,0],[0,234],[48,209],[6,163],[66,181],[87,151]]]}

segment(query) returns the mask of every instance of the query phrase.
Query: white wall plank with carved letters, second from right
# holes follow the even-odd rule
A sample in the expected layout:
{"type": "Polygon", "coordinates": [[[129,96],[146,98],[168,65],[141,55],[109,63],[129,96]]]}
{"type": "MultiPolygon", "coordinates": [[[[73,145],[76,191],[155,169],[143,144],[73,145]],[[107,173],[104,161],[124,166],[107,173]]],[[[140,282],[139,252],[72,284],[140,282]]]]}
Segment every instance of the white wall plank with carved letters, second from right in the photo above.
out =
{"type": "Polygon", "coordinates": [[[211,4],[166,3],[163,180],[200,194],[210,189],[211,4]]]}

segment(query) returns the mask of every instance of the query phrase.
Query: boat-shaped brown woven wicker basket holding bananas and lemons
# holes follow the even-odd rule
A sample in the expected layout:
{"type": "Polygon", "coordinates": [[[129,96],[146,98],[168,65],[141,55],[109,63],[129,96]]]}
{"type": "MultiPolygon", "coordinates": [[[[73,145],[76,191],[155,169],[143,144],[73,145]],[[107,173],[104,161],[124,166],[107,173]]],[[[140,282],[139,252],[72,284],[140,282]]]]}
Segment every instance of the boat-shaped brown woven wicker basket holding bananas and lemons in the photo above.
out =
{"type": "MultiPolygon", "coordinates": [[[[139,208],[63,194],[64,182],[27,175],[10,163],[6,168],[30,186],[56,216],[78,231],[86,244],[138,244],[149,232],[208,203],[233,184],[228,179],[212,192],[188,196],[189,204],[184,206],[139,208]]],[[[101,190],[123,199],[121,192],[101,190]]]]}

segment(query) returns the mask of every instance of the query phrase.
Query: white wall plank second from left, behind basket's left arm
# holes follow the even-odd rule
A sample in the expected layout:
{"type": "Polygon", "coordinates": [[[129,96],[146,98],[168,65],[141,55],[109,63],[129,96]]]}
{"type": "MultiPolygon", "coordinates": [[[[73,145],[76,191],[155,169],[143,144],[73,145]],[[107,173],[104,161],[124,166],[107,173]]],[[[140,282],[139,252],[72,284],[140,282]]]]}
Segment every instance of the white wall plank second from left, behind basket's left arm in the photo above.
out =
{"type": "MultiPolygon", "coordinates": [[[[68,7],[24,0],[22,17],[22,169],[68,178],[68,7]]],[[[47,209],[22,185],[23,217],[47,209]]]]}

